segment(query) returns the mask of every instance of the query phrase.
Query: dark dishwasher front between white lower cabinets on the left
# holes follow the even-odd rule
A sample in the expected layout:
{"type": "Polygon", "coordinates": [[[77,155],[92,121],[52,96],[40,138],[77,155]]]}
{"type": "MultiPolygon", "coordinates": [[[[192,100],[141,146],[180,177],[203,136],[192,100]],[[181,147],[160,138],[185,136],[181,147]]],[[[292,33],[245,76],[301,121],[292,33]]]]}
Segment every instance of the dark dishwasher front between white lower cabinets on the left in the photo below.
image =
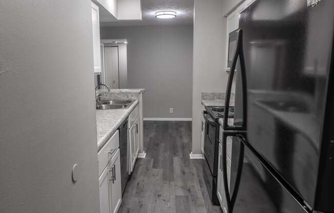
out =
{"type": "Polygon", "coordinates": [[[118,127],[119,130],[119,154],[120,154],[120,177],[122,195],[129,179],[128,159],[128,118],[118,127]]]}

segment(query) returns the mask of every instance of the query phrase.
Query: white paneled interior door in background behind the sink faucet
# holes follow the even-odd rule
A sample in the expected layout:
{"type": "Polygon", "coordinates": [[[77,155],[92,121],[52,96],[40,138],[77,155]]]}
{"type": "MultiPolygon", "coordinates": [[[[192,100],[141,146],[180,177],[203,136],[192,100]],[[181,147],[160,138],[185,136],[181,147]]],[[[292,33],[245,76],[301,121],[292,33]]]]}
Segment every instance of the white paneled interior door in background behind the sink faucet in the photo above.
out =
{"type": "Polygon", "coordinates": [[[105,81],[112,89],[119,89],[118,47],[105,47],[105,81]]]}

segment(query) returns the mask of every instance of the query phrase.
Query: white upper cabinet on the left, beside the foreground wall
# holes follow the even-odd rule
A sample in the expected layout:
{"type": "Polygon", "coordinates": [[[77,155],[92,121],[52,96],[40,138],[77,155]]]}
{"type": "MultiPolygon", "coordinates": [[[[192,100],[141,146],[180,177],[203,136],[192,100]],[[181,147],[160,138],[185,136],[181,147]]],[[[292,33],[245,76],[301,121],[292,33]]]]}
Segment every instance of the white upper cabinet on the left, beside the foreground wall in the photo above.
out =
{"type": "Polygon", "coordinates": [[[94,73],[101,72],[100,19],[98,6],[91,2],[94,73]]]}

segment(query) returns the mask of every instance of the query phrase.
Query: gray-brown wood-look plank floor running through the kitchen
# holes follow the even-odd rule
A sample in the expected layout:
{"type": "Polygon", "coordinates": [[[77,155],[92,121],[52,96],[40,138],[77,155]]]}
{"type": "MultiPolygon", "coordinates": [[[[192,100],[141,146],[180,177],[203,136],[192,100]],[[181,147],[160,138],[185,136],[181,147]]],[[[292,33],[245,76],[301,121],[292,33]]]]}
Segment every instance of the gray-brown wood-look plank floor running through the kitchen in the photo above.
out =
{"type": "Polygon", "coordinates": [[[119,212],[221,212],[213,206],[202,160],[189,159],[191,121],[144,121],[146,158],[138,158],[119,212]]]}

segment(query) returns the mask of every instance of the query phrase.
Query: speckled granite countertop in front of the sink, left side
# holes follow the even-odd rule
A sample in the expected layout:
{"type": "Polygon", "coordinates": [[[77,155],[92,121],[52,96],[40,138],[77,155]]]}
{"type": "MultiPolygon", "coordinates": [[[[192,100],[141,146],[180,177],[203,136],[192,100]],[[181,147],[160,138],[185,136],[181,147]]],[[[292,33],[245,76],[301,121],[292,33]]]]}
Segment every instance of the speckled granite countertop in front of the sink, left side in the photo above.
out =
{"type": "MultiPolygon", "coordinates": [[[[138,91],[139,90],[136,90],[136,93],[138,93],[138,91]]],[[[128,109],[96,110],[98,151],[117,131],[118,126],[126,120],[138,103],[139,100],[135,100],[128,109]]]]}

